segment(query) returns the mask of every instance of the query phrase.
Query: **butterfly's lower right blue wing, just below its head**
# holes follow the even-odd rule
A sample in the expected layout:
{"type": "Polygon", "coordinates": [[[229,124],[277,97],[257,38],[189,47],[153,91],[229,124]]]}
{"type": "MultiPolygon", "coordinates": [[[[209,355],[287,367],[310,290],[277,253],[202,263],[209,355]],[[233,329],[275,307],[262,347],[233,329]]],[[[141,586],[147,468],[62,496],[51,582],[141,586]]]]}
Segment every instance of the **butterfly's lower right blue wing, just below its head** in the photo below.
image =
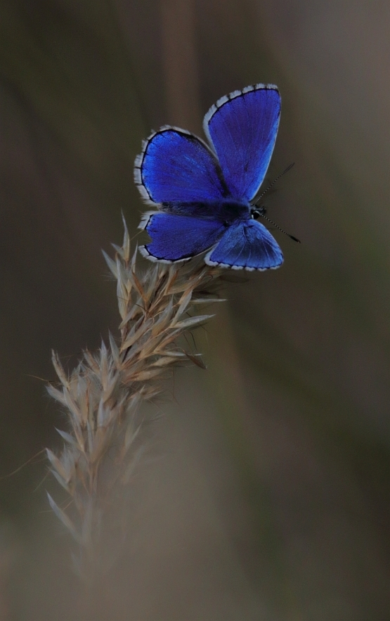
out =
{"type": "Polygon", "coordinates": [[[283,255],[266,227],[250,219],[230,226],[204,261],[208,265],[252,271],[280,267],[283,255]]]}

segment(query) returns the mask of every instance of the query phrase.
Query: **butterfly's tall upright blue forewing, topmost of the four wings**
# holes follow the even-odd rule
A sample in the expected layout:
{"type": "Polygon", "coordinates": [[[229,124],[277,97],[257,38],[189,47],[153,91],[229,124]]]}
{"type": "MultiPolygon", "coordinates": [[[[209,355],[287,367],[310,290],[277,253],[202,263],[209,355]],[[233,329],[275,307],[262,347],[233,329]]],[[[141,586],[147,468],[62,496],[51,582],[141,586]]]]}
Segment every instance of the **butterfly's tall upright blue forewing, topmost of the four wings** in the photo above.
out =
{"type": "Polygon", "coordinates": [[[204,133],[216,151],[232,196],[252,200],[264,181],[280,117],[273,84],[256,84],[219,99],[204,117],[204,133]]]}

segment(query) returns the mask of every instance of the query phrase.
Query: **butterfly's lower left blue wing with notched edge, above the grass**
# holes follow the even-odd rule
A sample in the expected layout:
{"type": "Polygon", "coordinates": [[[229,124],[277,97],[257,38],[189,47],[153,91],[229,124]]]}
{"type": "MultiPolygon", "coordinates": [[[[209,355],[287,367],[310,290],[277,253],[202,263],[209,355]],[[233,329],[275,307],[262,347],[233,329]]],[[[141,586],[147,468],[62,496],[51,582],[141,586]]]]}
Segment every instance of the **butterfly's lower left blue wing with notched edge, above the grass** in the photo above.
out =
{"type": "Polygon", "coordinates": [[[214,219],[148,212],[140,229],[148,231],[152,241],[140,247],[144,257],[151,261],[173,263],[188,260],[211,248],[226,230],[214,219]]]}

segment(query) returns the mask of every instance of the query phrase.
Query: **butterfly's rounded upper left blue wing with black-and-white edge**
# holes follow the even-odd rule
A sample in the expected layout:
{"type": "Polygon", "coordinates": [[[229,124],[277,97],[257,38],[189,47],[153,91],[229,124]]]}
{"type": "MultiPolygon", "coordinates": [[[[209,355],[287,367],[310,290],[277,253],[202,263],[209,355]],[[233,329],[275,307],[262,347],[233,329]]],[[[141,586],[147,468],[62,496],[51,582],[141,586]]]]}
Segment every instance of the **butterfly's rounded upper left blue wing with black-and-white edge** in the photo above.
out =
{"type": "Polygon", "coordinates": [[[162,127],[143,143],[134,180],[148,203],[207,202],[229,196],[214,154],[196,136],[162,127]]]}

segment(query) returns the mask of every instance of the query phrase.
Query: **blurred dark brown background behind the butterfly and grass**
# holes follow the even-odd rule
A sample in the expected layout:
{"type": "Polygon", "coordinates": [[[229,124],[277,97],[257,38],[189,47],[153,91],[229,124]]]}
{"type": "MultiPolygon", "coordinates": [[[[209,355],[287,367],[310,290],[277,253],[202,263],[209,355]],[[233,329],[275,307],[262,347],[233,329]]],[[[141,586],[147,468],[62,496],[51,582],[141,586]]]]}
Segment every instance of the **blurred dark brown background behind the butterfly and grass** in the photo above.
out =
{"type": "MultiPolygon", "coordinates": [[[[0,475],[60,447],[51,348],[115,331],[100,248],[121,210],[136,233],[150,129],[273,82],[270,179],[296,162],[266,205],[302,243],[275,233],[285,265],[227,287],[209,369],[167,386],[93,618],[390,619],[389,3],[3,0],[0,30],[0,475]]],[[[0,481],[0,617],[82,619],[36,461],[0,481]]]]}

